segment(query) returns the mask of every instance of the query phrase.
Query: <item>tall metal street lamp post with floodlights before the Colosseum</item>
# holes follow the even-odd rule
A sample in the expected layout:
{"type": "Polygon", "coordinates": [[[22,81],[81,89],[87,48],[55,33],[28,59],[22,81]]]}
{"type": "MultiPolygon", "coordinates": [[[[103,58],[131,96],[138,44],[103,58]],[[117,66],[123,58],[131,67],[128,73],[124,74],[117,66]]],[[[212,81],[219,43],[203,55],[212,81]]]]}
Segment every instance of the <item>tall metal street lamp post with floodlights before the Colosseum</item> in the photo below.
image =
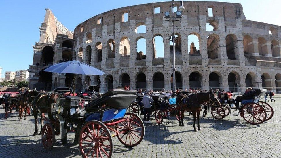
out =
{"type": "Polygon", "coordinates": [[[173,42],[173,55],[174,55],[174,67],[173,67],[173,88],[174,91],[176,91],[176,50],[175,50],[175,21],[180,21],[183,14],[182,11],[185,9],[183,7],[183,1],[181,1],[181,6],[179,7],[179,10],[176,11],[176,16],[174,16],[174,0],[172,0],[172,16],[170,17],[170,12],[165,12],[165,19],[168,19],[166,21],[173,22],[173,33],[172,33],[172,39],[169,38],[170,41],[173,42]]]}

